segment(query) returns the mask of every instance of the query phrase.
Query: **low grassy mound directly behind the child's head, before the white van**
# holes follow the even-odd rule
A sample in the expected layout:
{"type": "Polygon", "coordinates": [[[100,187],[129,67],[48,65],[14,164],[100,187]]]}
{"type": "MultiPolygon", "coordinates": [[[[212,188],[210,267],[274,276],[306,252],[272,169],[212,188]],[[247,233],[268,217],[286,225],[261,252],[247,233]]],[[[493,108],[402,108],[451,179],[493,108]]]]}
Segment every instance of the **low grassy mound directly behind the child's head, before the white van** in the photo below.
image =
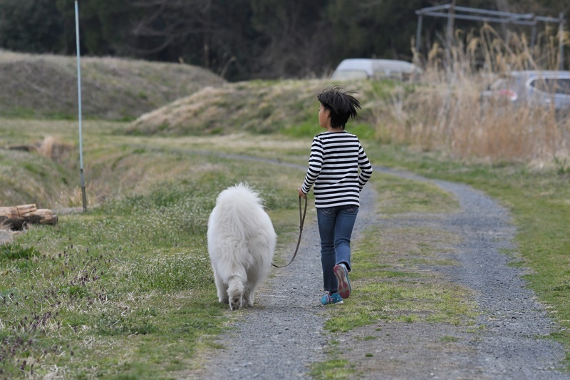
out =
{"type": "MultiPolygon", "coordinates": [[[[128,132],[133,134],[167,135],[214,133],[274,133],[291,125],[311,123],[318,114],[316,95],[330,81],[249,81],[227,83],[218,88],[181,98],[155,111],[140,116],[128,132]]],[[[363,110],[359,122],[371,119],[373,83],[350,83],[350,89],[360,93],[363,110]]]]}

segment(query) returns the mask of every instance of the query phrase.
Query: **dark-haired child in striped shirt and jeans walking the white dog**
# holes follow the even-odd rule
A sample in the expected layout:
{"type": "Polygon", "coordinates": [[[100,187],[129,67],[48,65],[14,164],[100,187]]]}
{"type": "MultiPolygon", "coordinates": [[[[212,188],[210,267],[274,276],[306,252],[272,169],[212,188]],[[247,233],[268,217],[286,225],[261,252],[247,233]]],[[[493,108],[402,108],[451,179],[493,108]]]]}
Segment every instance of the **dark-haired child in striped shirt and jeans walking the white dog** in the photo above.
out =
{"type": "Polygon", "coordinates": [[[326,132],[313,139],[309,168],[299,189],[305,198],[314,185],[324,289],[321,303],[342,304],[351,295],[351,235],[358,214],[359,195],[372,175],[372,165],[358,137],[344,130],[361,104],[353,92],[326,88],[317,98],[318,124],[326,132]],[[358,173],[360,169],[360,173],[358,173]]]}

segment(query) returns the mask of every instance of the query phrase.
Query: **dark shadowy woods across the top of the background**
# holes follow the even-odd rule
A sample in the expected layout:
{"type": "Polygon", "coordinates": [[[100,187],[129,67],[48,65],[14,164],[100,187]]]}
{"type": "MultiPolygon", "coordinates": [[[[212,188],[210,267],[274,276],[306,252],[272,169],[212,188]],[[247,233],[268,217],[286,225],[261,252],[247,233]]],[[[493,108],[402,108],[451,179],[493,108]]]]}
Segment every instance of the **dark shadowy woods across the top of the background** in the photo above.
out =
{"type": "MultiPolygon", "coordinates": [[[[81,0],[81,52],[182,61],[232,81],[321,76],[344,58],[409,60],[415,11],[447,2],[81,0]]],[[[570,0],[457,0],[457,5],[557,17],[570,9],[570,0]]],[[[445,34],[446,22],[424,18],[423,49],[445,34]]],[[[455,26],[467,34],[481,23],[457,20],[455,26]]],[[[0,0],[0,47],[75,53],[74,0],[0,0]]]]}

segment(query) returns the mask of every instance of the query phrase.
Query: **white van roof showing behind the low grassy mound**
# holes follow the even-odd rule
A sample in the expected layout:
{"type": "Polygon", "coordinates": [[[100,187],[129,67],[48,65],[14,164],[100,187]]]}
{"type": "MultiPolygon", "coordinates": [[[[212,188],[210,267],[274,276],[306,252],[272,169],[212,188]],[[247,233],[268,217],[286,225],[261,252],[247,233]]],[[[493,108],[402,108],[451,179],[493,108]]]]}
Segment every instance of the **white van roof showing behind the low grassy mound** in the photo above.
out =
{"type": "Polygon", "coordinates": [[[331,78],[336,81],[379,78],[406,80],[420,73],[421,69],[418,66],[407,61],[349,58],[337,66],[331,78]]]}

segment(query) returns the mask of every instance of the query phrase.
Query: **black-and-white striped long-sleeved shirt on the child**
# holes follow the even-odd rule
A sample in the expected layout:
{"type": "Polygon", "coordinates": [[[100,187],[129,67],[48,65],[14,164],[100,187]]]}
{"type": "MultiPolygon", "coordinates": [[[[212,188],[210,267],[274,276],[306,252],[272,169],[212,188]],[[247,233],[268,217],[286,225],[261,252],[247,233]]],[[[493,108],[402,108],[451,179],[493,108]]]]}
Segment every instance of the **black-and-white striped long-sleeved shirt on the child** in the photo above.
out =
{"type": "Polygon", "coordinates": [[[306,194],[314,185],[317,208],[359,206],[360,192],[371,175],[372,165],[356,135],[323,132],[313,139],[301,190],[306,194]]]}

